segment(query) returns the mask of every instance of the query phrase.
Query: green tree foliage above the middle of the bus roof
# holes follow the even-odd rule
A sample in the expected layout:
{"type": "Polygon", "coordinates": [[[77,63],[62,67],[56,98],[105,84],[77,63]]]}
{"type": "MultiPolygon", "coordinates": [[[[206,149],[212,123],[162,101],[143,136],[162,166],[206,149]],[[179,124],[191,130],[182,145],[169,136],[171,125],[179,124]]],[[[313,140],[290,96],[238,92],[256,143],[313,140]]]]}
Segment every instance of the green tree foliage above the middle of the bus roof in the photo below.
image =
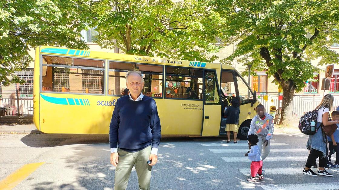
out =
{"type": "Polygon", "coordinates": [[[99,32],[97,43],[126,54],[214,61],[224,20],[206,0],[88,0],[82,14],[99,32]]]}

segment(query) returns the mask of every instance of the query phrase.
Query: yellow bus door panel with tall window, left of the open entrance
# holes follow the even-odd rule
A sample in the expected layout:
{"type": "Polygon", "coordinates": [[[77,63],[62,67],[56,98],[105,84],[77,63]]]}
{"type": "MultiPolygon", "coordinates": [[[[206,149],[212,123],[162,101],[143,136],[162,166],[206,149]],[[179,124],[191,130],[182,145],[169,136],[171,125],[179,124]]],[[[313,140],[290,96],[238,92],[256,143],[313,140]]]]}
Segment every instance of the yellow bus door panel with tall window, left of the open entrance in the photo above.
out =
{"type": "Polygon", "coordinates": [[[201,136],[218,136],[221,101],[215,70],[204,70],[203,124],[201,136]]]}

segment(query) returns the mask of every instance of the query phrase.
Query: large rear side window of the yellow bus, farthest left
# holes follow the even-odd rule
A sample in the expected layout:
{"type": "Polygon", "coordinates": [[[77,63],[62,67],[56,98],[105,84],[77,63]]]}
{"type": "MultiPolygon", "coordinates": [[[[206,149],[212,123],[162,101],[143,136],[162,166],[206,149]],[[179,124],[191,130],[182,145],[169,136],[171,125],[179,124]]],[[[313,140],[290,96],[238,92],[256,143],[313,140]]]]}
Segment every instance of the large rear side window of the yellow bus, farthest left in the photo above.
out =
{"type": "Polygon", "coordinates": [[[104,61],[48,55],[43,60],[43,92],[104,94],[104,69],[100,68],[104,61]]]}

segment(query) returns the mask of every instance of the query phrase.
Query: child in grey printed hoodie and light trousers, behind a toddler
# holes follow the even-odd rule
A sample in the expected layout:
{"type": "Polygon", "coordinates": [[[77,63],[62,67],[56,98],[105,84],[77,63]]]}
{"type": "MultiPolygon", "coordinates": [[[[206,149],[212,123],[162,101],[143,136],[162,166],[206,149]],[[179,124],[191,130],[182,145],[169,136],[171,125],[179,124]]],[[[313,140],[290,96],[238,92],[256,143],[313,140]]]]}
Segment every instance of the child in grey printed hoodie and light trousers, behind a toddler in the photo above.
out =
{"type": "Polygon", "coordinates": [[[256,111],[257,115],[251,121],[248,135],[258,135],[260,155],[262,160],[265,160],[270,153],[270,140],[274,131],[273,116],[265,113],[265,106],[262,104],[257,105],[256,111]]]}

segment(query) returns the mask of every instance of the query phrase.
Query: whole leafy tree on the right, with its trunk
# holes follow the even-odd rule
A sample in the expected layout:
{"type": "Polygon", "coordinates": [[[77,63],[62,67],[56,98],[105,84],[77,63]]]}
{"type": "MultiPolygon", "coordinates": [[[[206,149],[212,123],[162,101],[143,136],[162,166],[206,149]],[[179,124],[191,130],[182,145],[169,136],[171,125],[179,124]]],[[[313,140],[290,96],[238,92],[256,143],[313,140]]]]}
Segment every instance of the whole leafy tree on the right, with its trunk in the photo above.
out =
{"type": "Polygon", "coordinates": [[[225,61],[240,56],[252,71],[268,69],[283,90],[280,124],[288,124],[294,92],[318,71],[311,60],[339,63],[339,54],[329,49],[339,39],[338,1],[212,0],[212,4],[227,21],[222,38],[237,43],[225,61]],[[248,57],[252,61],[246,61],[248,57]]]}

